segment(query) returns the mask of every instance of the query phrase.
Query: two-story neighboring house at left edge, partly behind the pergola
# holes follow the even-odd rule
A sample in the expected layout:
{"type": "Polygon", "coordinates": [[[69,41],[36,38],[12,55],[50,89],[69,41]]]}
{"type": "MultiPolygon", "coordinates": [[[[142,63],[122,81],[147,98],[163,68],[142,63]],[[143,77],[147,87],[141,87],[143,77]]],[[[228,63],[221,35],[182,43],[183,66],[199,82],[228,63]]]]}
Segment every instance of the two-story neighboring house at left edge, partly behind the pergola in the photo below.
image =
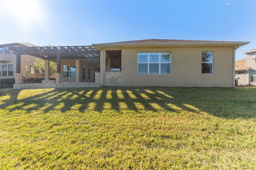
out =
{"type": "MultiPolygon", "coordinates": [[[[30,43],[8,43],[0,45],[0,79],[15,78],[16,55],[13,54],[11,47],[36,47],[30,43]]],[[[36,57],[22,55],[20,70],[23,77],[36,77],[34,62],[36,57]]]]}

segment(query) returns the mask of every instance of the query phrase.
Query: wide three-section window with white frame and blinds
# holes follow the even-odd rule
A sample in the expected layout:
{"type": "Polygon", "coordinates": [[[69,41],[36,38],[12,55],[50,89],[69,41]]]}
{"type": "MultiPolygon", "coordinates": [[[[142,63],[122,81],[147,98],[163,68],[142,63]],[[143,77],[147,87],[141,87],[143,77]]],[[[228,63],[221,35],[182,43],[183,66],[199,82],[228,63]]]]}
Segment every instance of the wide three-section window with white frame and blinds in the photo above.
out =
{"type": "Polygon", "coordinates": [[[171,52],[138,53],[138,74],[171,74],[171,52]]]}

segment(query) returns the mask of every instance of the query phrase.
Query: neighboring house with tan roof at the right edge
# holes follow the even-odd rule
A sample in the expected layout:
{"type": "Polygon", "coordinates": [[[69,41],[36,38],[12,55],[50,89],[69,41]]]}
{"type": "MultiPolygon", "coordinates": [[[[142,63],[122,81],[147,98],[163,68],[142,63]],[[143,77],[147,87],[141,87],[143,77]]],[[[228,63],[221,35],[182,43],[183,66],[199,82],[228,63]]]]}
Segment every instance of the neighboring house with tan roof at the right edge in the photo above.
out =
{"type": "Polygon", "coordinates": [[[256,48],[243,54],[246,54],[246,58],[235,64],[237,85],[256,85],[256,48]]]}

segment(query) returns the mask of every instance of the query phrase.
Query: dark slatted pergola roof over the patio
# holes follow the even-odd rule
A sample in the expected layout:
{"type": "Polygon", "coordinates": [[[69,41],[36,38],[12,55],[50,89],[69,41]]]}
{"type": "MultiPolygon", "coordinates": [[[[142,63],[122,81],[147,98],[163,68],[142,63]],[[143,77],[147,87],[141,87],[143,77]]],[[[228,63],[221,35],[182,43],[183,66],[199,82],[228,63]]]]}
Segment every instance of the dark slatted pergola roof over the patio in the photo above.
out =
{"type": "Polygon", "coordinates": [[[94,46],[59,46],[59,47],[9,47],[14,54],[32,55],[42,59],[100,59],[100,50],[94,46]]]}

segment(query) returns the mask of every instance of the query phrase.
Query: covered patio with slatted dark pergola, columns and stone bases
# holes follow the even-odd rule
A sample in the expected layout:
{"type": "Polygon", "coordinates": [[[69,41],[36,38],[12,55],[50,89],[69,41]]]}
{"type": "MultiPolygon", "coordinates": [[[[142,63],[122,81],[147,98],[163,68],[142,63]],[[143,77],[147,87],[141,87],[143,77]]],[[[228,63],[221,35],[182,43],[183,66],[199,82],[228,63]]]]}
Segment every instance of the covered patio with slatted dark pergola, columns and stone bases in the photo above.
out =
{"type": "Polygon", "coordinates": [[[10,47],[16,54],[14,89],[100,87],[100,50],[94,46],[10,47]],[[44,59],[42,84],[22,84],[21,55],[44,59]],[[56,62],[56,81],[50,80],[50,61],[56,62]]]}

